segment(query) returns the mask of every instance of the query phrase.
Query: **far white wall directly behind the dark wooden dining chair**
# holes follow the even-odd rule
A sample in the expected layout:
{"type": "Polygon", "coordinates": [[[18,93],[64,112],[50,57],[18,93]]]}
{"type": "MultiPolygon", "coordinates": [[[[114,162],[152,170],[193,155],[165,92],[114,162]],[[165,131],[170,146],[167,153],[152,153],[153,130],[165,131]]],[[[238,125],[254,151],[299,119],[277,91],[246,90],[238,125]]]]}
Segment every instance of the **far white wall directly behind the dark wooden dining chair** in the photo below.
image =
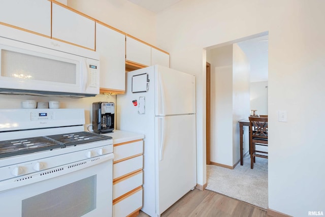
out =
{"type": "Polygon", "coordinates": [[[268,81],[250,83],[250,109],[257,114],[268,114],[268,81]]]}

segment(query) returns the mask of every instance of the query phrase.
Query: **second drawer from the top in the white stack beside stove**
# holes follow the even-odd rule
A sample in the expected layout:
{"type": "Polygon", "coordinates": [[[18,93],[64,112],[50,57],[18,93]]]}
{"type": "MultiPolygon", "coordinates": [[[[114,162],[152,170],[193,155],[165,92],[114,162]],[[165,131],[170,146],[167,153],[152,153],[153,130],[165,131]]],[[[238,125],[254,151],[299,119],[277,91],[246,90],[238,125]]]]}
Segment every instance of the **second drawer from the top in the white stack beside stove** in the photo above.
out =
{"type": "Polygon", "coordinates": [[[143,167],[143,156],[121,161],[119,163],[113,163],[113,179],[131,173],[136,170],[140,170],[143,167]]]}

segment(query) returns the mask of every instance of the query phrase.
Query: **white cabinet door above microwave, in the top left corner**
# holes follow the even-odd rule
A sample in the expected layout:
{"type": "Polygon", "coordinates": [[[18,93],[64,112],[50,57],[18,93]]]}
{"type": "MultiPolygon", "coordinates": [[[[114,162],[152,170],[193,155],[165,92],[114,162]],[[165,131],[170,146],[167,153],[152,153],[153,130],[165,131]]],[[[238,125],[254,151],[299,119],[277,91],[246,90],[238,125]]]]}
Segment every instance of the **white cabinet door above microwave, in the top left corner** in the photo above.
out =
{"type": "Polygon", "coordinates": [[[51,37],[51,1],[2,1],[0,23],[51,37]]]}

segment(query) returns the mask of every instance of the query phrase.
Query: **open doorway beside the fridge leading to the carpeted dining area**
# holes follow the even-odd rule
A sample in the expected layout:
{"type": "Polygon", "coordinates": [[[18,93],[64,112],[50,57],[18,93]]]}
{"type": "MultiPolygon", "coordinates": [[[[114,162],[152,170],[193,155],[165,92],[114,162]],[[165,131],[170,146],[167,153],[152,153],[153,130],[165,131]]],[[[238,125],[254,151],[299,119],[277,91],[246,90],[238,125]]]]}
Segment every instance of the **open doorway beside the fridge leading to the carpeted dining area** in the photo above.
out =
{"type": "MultiPolygon", "coordinates": [[[[257,44],[268,44],[268,36],[267,34],[263,35],[266,39],[256,39],[257,44]]],[[[258,37],[261,37],[259,35],[258,37]]],[[[252,37],[258,38],[258,37],[252,37]]],[[[243,42],[247,39],[240,40],[243,42]]],[[[261,91],[267,93],[268,84],[262,83],[261,80],[252,81],[250,79],[250,71],[251,68],[247,70],[247,61],[244,58],[243,53],[245,44],[239,45],[239,41],[233,41],[222,45],[216,45],[213,47],[207,48],[207,56],[206,59],[210,66],[207,65],[206,69],[206,95],[207,95],[207,121],[206,121],[206,136],[207,136],[207,188],[208,190],[222,193],[224,195],[228,195],[234,198],[237,198],[242,201],[246,201],[248,203],[254,204],[252,201],[255,198],[254,195],[251,195],[249,198],[244,198],[242,196],[250,195],[249,188],[244,183],[251,183],[249,178],[255,177],[256,174],[263,172],[263,175],[259,175],[261,177],[260,183],[264,183],[263,188],[261,188],[261,193],[258,195],[261,196],[261,199],[258,201],[261,204],[254,204],[259,207],[268,207],[268,184],[267,184],[267,175],[268,175],[268,161],[259,162],[257,158],[254,169],[250,169],[250,157],[249,154],[246,155],[247,159],[244,157],[244,165],[236,166],[237,160],[240,161],[239,158],[239,124],[238,120],[247,119],[250,113],[251,98],[250,98],[250,88],[251,82],[256,82],[254,86],[256,88],[263,87],[263,89],[258,89],[258,92],[261,91]],[[237,67],[237,69],[235,69],[237,67]],[[243,76],[243,74],[238,73],[240,70],[246,70],[248,73],[243,76]],[[210,70],[210,71],[209,71],[210,70]],[[237,71],[236,71],[237,70],[237,71]],[[238,71],[239,70],[239,71],[238,71]],[[261,84],[261,85],[257,85],[261,84]],[[245,105],[244,105],[245,104],[245,105]],[[244,112],[243,112],[244,111],[244,112]],[[217,166],[217,167],[216,167],[217,166]],[[225,170],[224,168],[229,168],[231,170],[225,170]],[[247,167],[249,169],[247,170],[247,167]],[[258,170],[261,168],[261,170],[258,170]],[[242,172],[244,171],[244,172],[242,172]],[[231,173],[230,174],[224,174],[231,173]],[[230,178],[231,177],[231,178],[230,178]],[[247,180],[247,181],[246,181],[247,180]],[[236,189],[234,187],[244,188],[236,189]],[[230,190],[230,191],[223,191],[230,190]],[[235,194],[233,194],[233,192],[235,194]],[[251,200],[252,199],[252,200],[251,200]],[[265,200],[266,199],[266,200],[265,200]]],[[[247,44],[247,43],[246,43],[247,44]]],[[[268,48],[264,49],[264,51],[268,52],[268,48]]],[[[248,55],[246,54],[248,57],[248,55]]],[[[257,61],[262,63],[262,55],[257,56],[257,61]]],[[[266,58],[266,60],[268,57],[266,58]]],[[[266,62],[266,68],[268,68],[268,62],[266,62]]],[[[260,71],[261,72],[261,71],[260,71]]],[[[254,79],[257,78],[257,75],[253,76],[254,79]]],[[[265,82],[265,81],[263,81],[265,82]]],[[[264,95],[265,96],[265,95],[264,95]]],[[[264,97],[267,99],[267,97],[264,97]]],[[[262,101],[259,103],[253,104],[253,106],[261,105],[262,101]]],[[[263,107],[256,108],[259,114],[267,114],[267,102],[263,103],[263,107]]],[[[248,129],[244,132],[244,136],[246,136],[246,143],[244,146],[244,153],[248,152],[249,141],[248,141],[248,129]]],[[[267,159],[263,159],[267,160],[267,159]]]]}

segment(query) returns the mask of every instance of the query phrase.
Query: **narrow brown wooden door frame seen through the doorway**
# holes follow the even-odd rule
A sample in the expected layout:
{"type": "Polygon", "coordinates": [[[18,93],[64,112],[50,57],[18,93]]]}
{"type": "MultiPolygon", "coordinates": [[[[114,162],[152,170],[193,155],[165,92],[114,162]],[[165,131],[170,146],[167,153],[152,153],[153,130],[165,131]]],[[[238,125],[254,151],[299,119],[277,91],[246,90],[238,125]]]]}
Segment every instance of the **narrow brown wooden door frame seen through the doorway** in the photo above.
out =
{"type": "Polygon", "coordinates": [[[207,165],[211,164],[211,64],[206,62],[206,149],[207,165]]]}

